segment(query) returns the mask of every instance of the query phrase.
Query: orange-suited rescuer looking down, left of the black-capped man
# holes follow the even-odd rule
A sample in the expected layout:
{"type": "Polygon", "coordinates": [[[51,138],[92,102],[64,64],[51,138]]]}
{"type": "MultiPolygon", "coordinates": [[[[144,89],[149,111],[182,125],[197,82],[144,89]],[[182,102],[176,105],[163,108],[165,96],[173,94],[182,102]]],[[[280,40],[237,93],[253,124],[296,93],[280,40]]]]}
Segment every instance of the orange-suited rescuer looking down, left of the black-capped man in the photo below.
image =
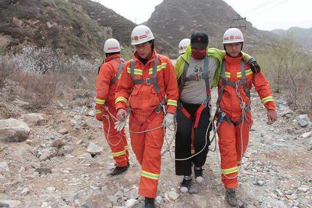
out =
{"type": "Polygon", "coordinates": [[[136,52],[122,71],[115,95],[117,119],[120,121],[117,129],[123,127],[128,116],[128,102],[131,106],[131,146],[142,166],[138,193],[145,196],[145,208],[155,207],[164,142],[162,127],[146,130],[173,124],[178,99],[172,62],[168,57],[156,53],[154,39],[152,31],[145,25],[133,29],[131,44],[136,46],[136,52]]]}

